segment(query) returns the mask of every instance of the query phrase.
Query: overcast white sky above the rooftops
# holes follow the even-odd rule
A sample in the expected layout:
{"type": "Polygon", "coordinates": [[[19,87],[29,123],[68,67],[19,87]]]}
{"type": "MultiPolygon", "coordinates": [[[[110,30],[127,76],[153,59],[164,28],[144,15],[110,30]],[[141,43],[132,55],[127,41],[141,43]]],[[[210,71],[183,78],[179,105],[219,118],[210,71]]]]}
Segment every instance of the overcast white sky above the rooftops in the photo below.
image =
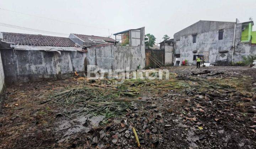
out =
{"type": "MultiPolygon", "coordinates": [[[[103,37],[109,32],[111,35],[144,26],[145,33],[155,35],[158,43],[163,35],[173,38],[174,33],[199,20],[235,22],[238,18],[246,22],[250,17],[256,20],[255,0],[0,0],[0,8],[0,23],[103,37]]],[[[0,32],[52,35],[3,26],[0,32]]]]}

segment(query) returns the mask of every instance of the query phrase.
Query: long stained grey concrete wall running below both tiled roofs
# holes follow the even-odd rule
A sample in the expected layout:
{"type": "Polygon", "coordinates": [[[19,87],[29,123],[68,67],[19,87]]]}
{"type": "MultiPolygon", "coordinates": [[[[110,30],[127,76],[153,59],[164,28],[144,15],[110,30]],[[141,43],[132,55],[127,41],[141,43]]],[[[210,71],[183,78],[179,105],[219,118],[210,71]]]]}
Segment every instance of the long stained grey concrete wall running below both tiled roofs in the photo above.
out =
{"type": "Polygon", "coordinates": [[[107,70],[145,67],[145,51],[141,51],[141,46],[107,45],[87,48],[87,51],[61,51],[60,55],[54,51],[2,49],[6,83],[67,78],[75,71],[84,75],[87,65],[107,70]]]}

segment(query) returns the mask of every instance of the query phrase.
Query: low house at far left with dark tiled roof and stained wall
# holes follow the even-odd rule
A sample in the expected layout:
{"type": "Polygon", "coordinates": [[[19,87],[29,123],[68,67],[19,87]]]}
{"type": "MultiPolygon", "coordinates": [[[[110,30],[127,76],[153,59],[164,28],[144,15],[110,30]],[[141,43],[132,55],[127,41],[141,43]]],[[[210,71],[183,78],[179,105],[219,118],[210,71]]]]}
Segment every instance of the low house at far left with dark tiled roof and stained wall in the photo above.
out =
{"type": "Polygon", "coordinates": [[[86,57],[69,38],[7,32],[0,33],[0,52],[7,84],[68,77],[84,71],[86,57]]]}

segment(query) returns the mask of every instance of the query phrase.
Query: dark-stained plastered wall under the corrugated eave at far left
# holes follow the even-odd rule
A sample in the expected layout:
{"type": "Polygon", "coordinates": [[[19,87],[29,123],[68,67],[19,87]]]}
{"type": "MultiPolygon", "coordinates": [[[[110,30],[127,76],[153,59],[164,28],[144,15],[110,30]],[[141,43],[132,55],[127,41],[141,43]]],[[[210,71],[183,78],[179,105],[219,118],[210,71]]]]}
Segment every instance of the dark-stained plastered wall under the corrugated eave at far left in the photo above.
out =
{"type": "Polygon", "coordinates": [[[86,53],[2,49],[6,84],[41,81],[45,78],[66,78],[74,71],[84,72],[86,53]]]}

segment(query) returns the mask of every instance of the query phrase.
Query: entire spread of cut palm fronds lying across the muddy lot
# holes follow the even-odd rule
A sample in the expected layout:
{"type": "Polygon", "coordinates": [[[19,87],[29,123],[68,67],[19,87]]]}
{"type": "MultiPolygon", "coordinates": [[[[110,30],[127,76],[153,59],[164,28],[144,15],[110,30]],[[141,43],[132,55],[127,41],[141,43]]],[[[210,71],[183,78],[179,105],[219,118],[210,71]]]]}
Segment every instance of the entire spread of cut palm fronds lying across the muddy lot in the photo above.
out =
{"type": "MultiPolygon", "coordinates": [[[[156,75],[156,74],[155,74],[156,75]]],[[[87,83],[91,86],[66,88],[55,91],[50,98],[55,99],[66,107],[82,107],[80,114],[104,115],[106,118],[123,115],[129,104],[124,101],[114,101],[120,96],[134,97],[143,91],[159,92],[159,90],[172,90],[185,87],[186,84],[178,82],[176,79],[101,79],[95,84],[87,83]]],[[[71,110],[72,111],[72,110],[71,110]]],[[[70,111],[68,113],[71,113],[70,111]]]]}

